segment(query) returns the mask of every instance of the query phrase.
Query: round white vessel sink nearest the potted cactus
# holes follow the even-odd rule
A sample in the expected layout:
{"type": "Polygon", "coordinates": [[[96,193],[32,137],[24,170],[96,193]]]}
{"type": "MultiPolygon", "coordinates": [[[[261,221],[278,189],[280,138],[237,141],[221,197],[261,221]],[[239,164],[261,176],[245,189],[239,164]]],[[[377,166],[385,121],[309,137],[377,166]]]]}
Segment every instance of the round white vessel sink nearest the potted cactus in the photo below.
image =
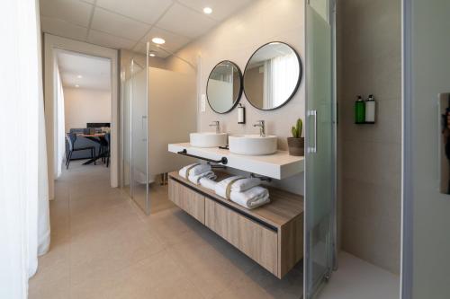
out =
{"type": "Polygon", "coordinates": [[[229,136],[229,152],[233,154],[275,154],[276,136],[234,135],[229,136]]]}

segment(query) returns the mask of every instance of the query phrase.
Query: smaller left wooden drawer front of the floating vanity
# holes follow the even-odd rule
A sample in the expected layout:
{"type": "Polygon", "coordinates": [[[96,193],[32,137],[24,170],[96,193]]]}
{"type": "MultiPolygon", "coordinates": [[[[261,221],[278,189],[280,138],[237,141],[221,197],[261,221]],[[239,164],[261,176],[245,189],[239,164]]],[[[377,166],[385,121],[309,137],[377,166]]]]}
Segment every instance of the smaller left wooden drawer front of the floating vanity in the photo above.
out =
{"type": "Polygon", "coordinates": [[[186,213],[192,215],[195,219],[204,224],[204,200],[205,198],[185,187],[175,180],[169,180],[169,199],[176,206],[184,209],[186,213]]]}

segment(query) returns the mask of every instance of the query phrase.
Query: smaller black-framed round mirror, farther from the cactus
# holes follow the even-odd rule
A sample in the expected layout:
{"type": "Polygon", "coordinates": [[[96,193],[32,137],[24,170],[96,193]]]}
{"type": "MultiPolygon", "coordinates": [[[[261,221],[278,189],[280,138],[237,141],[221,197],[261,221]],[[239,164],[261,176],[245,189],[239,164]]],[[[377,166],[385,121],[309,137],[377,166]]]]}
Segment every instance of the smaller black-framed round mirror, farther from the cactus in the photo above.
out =
{"type": "Polygon", "coordinates": [[[236,64],[225,60],[214,66],[208,78],[206,96],[212,110],[227,113],[242,94],[242,73],[236,64]]]}

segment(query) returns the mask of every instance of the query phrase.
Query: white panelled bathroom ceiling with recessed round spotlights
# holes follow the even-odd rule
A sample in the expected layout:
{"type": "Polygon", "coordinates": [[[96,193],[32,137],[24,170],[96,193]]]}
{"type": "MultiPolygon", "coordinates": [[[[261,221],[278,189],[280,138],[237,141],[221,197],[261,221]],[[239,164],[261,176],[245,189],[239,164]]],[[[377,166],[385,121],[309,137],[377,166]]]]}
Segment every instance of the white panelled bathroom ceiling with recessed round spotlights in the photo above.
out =
{"type": "MultiPolygon", "coordinates": [[[[44,32],[143,53],[148,40],[161,37],[175,52],[252,1],[40,0],[40,22],[44,32]],[[209,15],[202,13],[206,6],[209,15]]],[[[168,55],[159,49],[157,56],[168,55]]]]}

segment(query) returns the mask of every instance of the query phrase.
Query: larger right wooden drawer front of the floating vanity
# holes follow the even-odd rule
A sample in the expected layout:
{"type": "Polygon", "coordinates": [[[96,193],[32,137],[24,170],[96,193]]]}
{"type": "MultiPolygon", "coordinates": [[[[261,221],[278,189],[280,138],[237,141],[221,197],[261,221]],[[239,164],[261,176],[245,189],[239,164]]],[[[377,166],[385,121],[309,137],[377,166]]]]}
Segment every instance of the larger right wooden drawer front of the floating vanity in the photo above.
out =
{"type": "Polygon", "coordinates": [[[275,276],[278,275],[277,233],[209,198],[205,198],[205,225],[275,276]]]}

